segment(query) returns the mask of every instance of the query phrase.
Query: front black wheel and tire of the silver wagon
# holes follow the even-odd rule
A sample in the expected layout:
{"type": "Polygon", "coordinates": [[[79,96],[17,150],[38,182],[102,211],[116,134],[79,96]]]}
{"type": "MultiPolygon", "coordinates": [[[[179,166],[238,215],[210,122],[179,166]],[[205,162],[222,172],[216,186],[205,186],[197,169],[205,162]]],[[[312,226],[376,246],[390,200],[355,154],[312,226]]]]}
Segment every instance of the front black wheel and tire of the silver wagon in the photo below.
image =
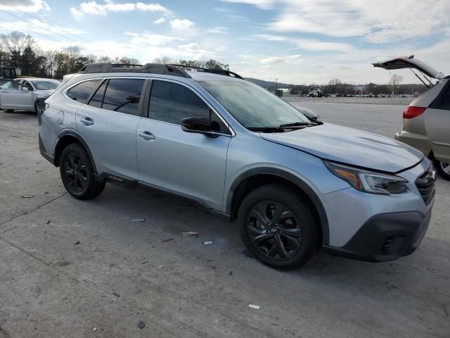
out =
{"type": "Polygon", "coordinates": [[[300,268],[316,250],[319,223],[309,204],[281,184],[267,184],[245,196],[238,222],[245,247],[266,265],[300,268]]]}

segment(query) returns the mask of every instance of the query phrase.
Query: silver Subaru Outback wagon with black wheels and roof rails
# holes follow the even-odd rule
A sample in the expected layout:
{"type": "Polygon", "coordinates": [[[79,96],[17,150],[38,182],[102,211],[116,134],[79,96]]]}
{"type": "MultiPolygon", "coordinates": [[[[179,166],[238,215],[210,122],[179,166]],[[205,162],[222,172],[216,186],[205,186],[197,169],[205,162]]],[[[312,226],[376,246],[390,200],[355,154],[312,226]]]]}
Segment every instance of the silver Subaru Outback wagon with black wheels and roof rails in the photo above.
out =
{"type": "Polygon", "coordinates": [[[75,198],[105,182],[184,196],[237,220],[248,250],[278,268],[319,248],[406,256],[435,194],[420,151],[307,118],[228,70],[86,65],[46,100],[39,148],[75,198]]]}

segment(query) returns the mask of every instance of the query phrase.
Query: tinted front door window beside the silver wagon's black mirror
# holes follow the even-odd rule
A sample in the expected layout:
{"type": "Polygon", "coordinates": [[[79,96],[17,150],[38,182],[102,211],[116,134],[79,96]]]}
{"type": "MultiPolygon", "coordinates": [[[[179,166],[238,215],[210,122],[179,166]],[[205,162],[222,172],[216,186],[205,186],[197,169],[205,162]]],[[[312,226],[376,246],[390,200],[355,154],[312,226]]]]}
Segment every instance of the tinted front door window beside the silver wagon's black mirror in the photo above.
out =
{"type": "Polygon", "coordinates": [[[181,120],[192,116],[209,118],[210,107],[191,89],[181,84],[153,80],[150,118],[179,125],[181,120]]]}

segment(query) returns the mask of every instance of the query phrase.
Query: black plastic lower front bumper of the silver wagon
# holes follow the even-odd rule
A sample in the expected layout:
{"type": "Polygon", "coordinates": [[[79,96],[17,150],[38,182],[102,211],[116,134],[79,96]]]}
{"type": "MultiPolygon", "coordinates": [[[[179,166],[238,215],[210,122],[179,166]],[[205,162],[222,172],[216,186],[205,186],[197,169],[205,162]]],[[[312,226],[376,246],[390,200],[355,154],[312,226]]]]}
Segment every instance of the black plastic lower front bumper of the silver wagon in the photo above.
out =
{"type": "Polygon", "coordinates": [[[326,252],[361,261],[392,261],[415,251],[425,237],[431,218],[417,211],[380,213],[366,221],[342,247],[324,246],[326,252]]]}

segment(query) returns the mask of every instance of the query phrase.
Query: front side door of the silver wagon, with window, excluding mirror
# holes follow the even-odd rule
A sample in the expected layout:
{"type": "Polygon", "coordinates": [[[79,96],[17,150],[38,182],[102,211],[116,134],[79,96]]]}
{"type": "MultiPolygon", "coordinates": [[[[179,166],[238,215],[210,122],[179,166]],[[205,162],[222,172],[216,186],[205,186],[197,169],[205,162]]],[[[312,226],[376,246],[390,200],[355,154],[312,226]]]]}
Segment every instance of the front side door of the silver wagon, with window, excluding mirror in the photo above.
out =
{"type": "Polygon", "coordinates": [[[136,135],[139,180],[221,210],[230,140],[229,128],[193,89],[153,80],[149,115],[139,122],[136,135]],[[181,130],[183,118],[199,115],[211,116],[223,135],[181,130]]]}

